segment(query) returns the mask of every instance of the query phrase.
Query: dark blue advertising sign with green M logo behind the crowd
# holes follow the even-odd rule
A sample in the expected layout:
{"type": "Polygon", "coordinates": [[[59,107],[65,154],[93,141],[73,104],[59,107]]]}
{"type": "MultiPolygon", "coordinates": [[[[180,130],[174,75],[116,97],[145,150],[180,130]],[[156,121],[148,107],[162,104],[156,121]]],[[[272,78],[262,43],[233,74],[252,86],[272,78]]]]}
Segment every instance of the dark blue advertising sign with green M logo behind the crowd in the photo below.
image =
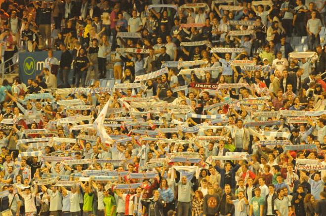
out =
{"type": "MultiPolygon", "coordinates": [[[[53,56],[60,61],[61,51],[54,51],[53,56]]],[[[22,82],[27,83],[28,79],[35,79],[41,74],[44,68],[44,60],[47,58],[47,51],[20,52],[19,53],[19,77],[22,82]]]]}

